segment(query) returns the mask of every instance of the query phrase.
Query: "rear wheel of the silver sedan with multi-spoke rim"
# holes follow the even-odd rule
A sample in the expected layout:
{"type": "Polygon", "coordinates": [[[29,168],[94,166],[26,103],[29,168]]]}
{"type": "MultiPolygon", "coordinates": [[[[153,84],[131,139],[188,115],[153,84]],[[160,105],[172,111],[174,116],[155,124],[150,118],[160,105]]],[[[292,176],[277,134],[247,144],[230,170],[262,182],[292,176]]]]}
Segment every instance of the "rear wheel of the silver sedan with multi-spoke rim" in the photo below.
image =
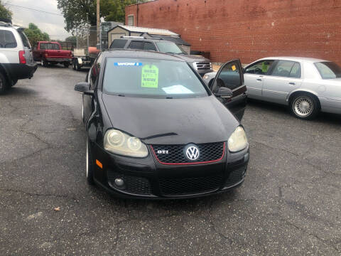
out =
{"type": "Polygon", "coordinates": [[[290,108],[295,117],[305,120],[315,118],[320,112],[318,99],[304,92],[293,97],[290,108]]]}

